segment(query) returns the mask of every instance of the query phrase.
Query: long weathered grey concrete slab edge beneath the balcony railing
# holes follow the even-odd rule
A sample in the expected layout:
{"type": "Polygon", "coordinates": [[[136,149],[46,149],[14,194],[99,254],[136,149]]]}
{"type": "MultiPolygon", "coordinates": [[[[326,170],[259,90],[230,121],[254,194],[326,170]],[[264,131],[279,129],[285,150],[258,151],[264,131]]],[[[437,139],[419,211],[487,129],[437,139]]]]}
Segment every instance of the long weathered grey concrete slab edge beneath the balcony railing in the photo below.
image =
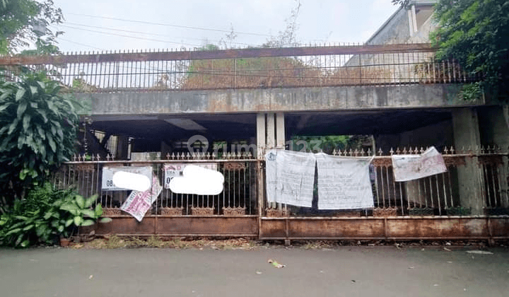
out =
{"type": "Polygon", "coordinates": [[[457,106],[460,85],[270,88],[160,93],[76,94],[90,100],[90,115],[160,115],[192,112],[378,110],[457,106]]]}

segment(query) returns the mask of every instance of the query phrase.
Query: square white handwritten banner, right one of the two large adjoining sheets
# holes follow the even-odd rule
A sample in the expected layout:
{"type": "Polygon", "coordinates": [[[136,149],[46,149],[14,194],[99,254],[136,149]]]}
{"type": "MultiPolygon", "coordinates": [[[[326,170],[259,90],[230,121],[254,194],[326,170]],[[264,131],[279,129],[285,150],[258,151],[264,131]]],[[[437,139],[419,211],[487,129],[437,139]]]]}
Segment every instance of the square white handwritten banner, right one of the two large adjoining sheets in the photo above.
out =
{"type": "Polygon", "coordinates": [[[374,207],[369,165],[373,157],[317,153],[318,209],[374,207]]]}

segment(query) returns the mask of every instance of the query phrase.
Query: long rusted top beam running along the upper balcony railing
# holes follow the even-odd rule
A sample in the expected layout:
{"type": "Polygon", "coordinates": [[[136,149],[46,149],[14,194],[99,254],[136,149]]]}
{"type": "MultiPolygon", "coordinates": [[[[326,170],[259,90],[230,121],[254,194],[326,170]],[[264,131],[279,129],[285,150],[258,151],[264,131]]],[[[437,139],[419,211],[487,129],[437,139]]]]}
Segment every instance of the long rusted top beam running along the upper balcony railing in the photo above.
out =
{"type": "Polygon", "coordinates": [[[0,65],[40,65],[98,62],[175,61],[198,59],[240,59],[258,57],[320,56],[332,54],[384,54],[433,52],[428,43],[400,45],[344,45],[329,47],[250,48],[239,50],[196,50],[182,52],[123,52],[109,54],[62,54],[52,56],[0,57],[0,65]]]}

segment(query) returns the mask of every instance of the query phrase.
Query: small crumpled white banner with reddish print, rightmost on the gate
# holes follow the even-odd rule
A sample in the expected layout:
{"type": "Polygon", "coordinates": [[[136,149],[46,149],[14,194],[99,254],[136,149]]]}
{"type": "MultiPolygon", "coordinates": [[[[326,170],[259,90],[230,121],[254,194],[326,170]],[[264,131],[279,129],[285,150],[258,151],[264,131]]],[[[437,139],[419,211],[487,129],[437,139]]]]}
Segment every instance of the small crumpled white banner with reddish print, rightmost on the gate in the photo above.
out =
{"type": "Polygon", "coordinates": [[[419,155],[392,155],[394,180],[406,182],[447,172],[443,157],[434,146],[419,155]]]}

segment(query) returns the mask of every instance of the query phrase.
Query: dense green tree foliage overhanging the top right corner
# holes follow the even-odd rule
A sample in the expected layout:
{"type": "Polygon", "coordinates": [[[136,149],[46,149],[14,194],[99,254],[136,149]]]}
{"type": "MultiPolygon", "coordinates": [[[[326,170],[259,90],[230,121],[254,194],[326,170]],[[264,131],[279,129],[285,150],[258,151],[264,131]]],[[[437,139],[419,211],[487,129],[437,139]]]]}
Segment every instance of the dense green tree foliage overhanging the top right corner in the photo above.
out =
{"type": "MultiPolygon", "coordinates": [[[[409,0],[392,0],[408,6],[409,0]]],[[[433,15],[438,28],[430,34],[438,59],[456,59],[469,74],[483,77],[464,87],[463,98],[509,100],[509,1],[439,0],[433,15]]]]}

